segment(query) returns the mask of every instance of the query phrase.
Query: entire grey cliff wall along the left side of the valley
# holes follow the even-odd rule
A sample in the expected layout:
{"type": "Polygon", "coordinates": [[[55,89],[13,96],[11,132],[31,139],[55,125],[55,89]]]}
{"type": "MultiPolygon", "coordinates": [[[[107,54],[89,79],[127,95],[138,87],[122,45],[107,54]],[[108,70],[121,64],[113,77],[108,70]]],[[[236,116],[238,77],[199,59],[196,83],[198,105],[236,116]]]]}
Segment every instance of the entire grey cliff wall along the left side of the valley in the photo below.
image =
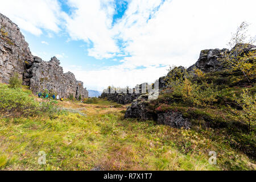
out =
{"type": "Polygon", "coordinates": [[[0,14],[0,82],[8,83],[14,72],[19,73],[23,84],[33,93],[47,89],[60,97],[87,98],[88,91],[83,82],[77,81],[73,73],[63,73],[60,61],[52,57],[49,62],[33,56],[24,36],[16,24],[0,14]]]}

